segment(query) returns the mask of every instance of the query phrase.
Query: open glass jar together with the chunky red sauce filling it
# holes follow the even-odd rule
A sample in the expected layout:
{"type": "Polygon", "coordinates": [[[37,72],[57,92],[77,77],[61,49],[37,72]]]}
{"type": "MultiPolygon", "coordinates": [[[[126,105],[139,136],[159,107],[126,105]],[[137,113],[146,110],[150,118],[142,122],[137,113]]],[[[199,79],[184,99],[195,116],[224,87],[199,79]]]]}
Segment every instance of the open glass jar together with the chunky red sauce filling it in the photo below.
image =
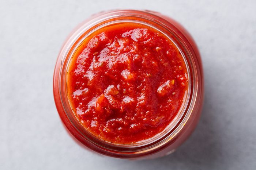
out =
{"type": "Polygon", "coordinates": [[[160,157],[196,127],[202,62],[192,37],[173,19],[151,11],[102,12],[64,43],[53,94],[82,146],[117,158],[160,157]]]}

